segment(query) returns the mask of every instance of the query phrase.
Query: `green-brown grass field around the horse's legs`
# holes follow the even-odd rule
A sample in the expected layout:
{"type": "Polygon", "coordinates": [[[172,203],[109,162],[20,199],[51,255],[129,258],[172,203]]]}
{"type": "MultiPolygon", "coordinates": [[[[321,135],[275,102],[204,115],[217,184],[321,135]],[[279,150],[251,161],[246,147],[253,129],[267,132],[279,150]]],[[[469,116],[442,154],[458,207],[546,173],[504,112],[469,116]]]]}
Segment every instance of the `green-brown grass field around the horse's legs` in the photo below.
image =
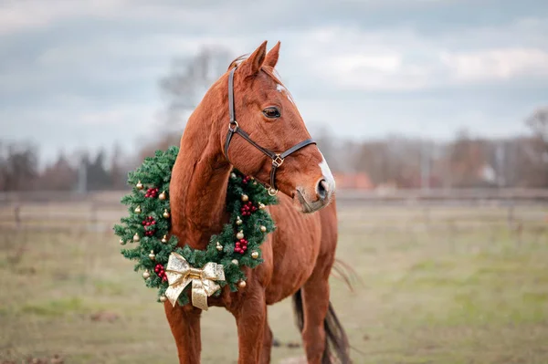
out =
{"type": "MultiPolygon", "coordinates": [[[[361,284],[332,279],[355,363],[548,363],[548,209],[341,209],[338,257],[361,284]]],[[[0,363],[174,363],[163,307],[109,233],[0,234],[0,363]],[[53,361],[52,361],[53,362],[53,361]]],[[[269,309],[273,362],[302,348],[290,302],[269,309]]],[[[234,319],[203,319],[203,362],[237,359],[234,319]]]]}

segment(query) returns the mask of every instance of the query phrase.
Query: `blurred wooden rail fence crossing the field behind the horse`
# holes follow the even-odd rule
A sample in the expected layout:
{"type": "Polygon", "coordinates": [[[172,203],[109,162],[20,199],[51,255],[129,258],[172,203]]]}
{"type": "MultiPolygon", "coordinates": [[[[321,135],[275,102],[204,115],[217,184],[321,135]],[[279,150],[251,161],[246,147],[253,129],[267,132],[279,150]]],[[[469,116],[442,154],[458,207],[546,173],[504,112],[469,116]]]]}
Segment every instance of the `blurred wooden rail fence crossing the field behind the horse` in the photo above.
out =
{"type": "MultiPolygon", "coordinates": [[[[0,194],[0,230],[111,232],[127,213],[127,192],[0,194]]],[[[400,190],[337,192],[340,219],[363,228],[477,228],[532,222],[548,225],[548,190],[400,190]]]]}

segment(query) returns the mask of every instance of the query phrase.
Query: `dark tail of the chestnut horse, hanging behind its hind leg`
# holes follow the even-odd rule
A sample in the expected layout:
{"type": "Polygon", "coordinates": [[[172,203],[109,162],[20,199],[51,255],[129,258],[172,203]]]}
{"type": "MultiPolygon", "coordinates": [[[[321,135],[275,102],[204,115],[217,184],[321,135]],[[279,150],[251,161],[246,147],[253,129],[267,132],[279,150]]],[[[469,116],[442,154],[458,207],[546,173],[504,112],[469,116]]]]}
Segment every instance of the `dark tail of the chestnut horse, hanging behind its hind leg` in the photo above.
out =
{"type": "MultiPolygon", "coordinates": [[[[304,328],[304,311],[300,290],[293,295],[293,309],[295,311],[297,327],[302,332],[304,328]]],[[[342,364],[351,363],[350,344],[331,302],[329,303],[327,315],[323,320],[323,328],[325,329],[325,348],[321,356],[321,364],[332,364],[334,357],[338,357],[342,364]]]]}

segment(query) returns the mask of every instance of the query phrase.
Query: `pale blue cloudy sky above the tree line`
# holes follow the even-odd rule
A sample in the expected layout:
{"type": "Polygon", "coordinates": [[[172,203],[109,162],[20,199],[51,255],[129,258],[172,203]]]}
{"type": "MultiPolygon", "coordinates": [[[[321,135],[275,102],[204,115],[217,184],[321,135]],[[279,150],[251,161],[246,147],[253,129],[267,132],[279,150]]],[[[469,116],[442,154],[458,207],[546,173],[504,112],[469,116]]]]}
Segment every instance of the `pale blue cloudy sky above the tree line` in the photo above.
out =
{"type": "Polygon", "coordinates": [[[264,40],[311,130],[507,137],[548,104],[546,35],[544,0],[0,0],[0,139],[137,151],[175,57],[264,40]]]}

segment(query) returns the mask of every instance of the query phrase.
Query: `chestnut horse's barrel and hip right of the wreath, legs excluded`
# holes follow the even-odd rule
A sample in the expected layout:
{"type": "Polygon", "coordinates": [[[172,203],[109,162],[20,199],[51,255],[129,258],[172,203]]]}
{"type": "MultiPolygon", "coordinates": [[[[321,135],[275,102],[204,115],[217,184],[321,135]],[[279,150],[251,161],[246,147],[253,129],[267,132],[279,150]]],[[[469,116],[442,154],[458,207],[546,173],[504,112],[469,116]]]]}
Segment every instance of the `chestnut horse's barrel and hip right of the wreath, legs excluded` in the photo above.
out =
{"type": "Polygon", "coordinates": [[[337,215],[333,202],[317,213],[301,213],[285,195],[269,207],[276,230],[265,244],[263,257],[272,268],[267,287],[269,305],[294,294],[311,276],[316,265],[331,261],[337,239],[337,215]]]}

